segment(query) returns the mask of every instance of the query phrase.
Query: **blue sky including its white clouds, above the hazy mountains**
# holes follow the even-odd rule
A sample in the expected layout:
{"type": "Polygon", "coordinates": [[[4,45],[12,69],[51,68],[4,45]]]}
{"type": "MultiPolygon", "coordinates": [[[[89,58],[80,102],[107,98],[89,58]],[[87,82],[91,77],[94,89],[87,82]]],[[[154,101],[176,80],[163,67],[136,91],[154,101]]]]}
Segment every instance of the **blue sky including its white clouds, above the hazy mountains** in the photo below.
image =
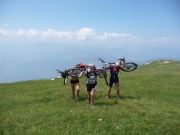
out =
{"type": "Polygon", "coordinates": [[[179,7],[179,0],[1,0],[0,38],[179,43],[179,7]]]}

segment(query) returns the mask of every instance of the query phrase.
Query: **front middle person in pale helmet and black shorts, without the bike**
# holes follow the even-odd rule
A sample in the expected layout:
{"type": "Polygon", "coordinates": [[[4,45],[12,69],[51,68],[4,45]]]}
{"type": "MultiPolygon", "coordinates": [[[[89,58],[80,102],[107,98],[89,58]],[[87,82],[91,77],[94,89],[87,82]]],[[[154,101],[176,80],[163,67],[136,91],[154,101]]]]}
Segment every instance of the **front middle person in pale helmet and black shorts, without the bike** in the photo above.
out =
{"type": "Polygon", "coordinates": [[[82,71],[80,73],[80,77],[83,75],[87,76],[87,83],[86,83],[86,89],[88,93],[88,104],[91,106],[94,106],[94,95],[97,89],[97,76],[103,77],[103,75],[100,73],[100,71],[96,71],[96,67],[93,63],[90,63],[88,65],[90,68],[89,70],[82,71]]]}

